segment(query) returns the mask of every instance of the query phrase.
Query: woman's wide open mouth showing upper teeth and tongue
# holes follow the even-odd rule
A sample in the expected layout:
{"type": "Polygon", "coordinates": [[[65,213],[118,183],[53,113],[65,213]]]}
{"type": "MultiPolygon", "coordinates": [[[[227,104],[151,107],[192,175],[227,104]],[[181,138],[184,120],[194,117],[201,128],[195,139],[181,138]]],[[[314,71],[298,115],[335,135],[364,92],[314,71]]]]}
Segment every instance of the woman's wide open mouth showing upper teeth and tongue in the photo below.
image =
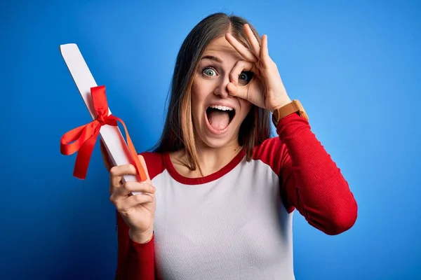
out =
{"type": "Polygon", "coordinates": [[[229,106],[212,105],[206,109],[208,123],[214,132],[225,131],[234,116],[235,110],[229,106]]]}

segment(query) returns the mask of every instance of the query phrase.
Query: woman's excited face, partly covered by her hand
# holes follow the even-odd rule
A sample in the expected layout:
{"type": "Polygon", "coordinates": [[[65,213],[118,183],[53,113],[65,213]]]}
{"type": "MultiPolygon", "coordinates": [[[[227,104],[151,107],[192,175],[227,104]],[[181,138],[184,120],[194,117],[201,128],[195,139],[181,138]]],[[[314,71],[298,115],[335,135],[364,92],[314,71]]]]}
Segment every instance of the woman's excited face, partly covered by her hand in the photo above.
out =
{"type": "MultiPolygon", "coordinates": [[[[222,36],[208,45],[194,74],[194,130],[199,140],[211,148],[236,147],[240,125],[251,108],[250,102],[228,94],[229,74],[239,60],[243,57],[222,36]]],[[[250,78],[242,73],[239,85],[246,85],[250,78]]]]}

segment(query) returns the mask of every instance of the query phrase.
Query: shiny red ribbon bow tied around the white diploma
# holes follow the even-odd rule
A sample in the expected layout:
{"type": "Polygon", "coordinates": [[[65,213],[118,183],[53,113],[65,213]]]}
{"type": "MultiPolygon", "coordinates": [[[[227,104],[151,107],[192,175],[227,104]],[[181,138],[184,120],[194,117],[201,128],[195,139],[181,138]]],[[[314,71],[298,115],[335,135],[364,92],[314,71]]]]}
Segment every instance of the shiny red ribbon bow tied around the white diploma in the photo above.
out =
{"type": "Polygon", "coordinates": [[[100,134],[100,128],[102,125],[117,126],[117,121],[119,121],[126,131],[128,149],[130,150],[133,161],[135,162],[135,168],[140,175],[140,180],[146,181],[147,176],[145,174],[145,170],[142,168],[142,164],[138,158],[138,153],[136,153],[135,146],[128,134],[126,124],[123,120],[117,118],[116,116],[113,116],[112,114],[108,115],[105,86],[100,85],[98,87],[91,87],[91,96],[93,100],[93,107],[97,113],[97,118],[91,123],[81,125],[80,127],[70,130],[65,133],[60,140],[60,152],[62,155],[72,155],[73,153],[78,152],[76,155],[76,162],[74,164],[73,175],[79,179],[86,178],[89,161],[91,160],[93,147],[95,146],[98,134],[100,134]]]}

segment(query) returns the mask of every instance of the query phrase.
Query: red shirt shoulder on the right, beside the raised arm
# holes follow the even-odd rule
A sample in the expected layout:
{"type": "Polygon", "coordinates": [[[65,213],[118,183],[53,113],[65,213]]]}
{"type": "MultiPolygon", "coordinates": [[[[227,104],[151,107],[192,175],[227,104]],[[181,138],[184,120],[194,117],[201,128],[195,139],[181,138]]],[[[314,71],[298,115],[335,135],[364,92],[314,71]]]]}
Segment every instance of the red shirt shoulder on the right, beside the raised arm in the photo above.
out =
{"type": "Polygon", "coordinates": [[[259,146],[255,146],[253,151],[253,160],[260,160],[279,174],[284,160],[286,160],[288,151],[286,145],[282,143],[279,137],[266,139],[259,146]]]}

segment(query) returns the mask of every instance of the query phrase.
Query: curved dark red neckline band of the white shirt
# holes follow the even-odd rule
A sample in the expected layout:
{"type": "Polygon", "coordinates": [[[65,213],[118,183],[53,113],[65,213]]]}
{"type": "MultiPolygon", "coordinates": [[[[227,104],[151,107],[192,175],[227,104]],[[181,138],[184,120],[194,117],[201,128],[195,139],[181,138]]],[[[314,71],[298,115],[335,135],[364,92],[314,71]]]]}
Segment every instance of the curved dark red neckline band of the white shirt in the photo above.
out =
{"type": "Polygon", "coordinates": [[[217,179],[220,179],[222,176],[230,172],[234,167],[239,165],[241,160],[243,160],[244,155],[246,155],[246,151],[244,149],[241,149],[241,151],[229,162],[225,167],[222,167],[217,172],[214,172],[213,174],[209,174],[204,177],[199,178],[189,178],[186,176],[182,176],[178,171],[175,169],[173,162],[171,162],[170,153],[164,153],[163,154],[163,162],[168,170],[168,173],[175,179],[175,181],[178,181],[179,183],[185,184],[185,185],[200,185],[203,183],[209,183],[211,181],[215,181],[217,179]]]}

